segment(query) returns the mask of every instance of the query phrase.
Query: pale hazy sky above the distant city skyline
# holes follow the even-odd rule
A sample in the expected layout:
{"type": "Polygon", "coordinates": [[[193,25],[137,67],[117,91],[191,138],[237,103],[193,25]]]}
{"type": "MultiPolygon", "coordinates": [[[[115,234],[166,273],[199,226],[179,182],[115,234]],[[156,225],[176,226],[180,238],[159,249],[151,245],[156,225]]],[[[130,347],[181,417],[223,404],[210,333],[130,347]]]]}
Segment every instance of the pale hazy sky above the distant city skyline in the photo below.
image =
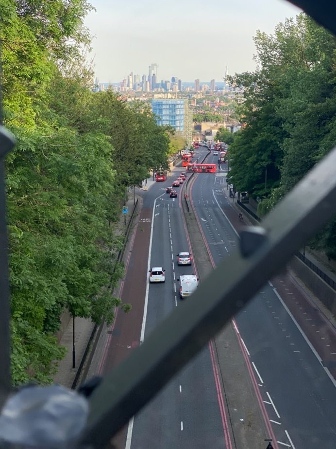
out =
{"type": "Polygon", "coordinates": [[[286,0],[91,0],[85,19],[94,36],[92,56],[100,82],[120,81],[130,72],[148,74],[158,64],[158,81],[222,81],[229,73],[255,69],[252,36],[273,33],[300,9],[286,0]]]}

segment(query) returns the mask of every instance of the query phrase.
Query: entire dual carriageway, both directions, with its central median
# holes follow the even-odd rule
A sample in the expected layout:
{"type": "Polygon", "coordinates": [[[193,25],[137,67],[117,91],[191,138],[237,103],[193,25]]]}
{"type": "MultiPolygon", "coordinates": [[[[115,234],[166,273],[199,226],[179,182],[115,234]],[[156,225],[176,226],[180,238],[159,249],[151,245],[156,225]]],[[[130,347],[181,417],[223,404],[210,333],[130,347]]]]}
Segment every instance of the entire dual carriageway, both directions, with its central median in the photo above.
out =
{"type": "MultiPolygon", "coordinates": [[[[205,153],[202,148],[199,157],[205,153]]],[[[206,162],[217,159],[210,154],[206,162]]],[[[193,176],[194,219],[183,214],[182,185],[176,199],[165,192],[180,171],[176,168],[165,183],[155,183],[143,195],[120,291],[132,311],[119,312],[103,336],[91,375],[110,371],[179,306],[181,274],[198,274],[202,281],[222,260],[230,263],[238,246],[241,224],[225,194],[225,171],[193,176]],[[192,266],[177,266],[180,251],[192,253],[192,266]],[[164,284],[148,283],[151,266],[166,270],[164,284]]],[[[300,286],[280,274],[131,420],[114,444],[120,449],[253,449],[266,448],[264,440],[271,438],[273,448],[335,448],[336,382],[327,366],[336,363],[336,333],[323,314],[309,307],[300,286]]]]}

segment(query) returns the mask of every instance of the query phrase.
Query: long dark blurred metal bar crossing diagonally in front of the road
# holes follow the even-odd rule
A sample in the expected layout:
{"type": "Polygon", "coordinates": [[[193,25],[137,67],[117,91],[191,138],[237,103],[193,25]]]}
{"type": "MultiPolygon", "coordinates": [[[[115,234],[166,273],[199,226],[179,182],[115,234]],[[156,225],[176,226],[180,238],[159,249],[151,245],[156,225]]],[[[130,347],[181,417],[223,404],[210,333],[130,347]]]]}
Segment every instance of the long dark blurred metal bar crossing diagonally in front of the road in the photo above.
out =
{"type": "Polygon", "coordinates": [[[235,251],[103,379],[81,443],[103,447],[335,214],[335,166],[336,148],[261,223],[256,251],[245,258],[235,251]]]}

